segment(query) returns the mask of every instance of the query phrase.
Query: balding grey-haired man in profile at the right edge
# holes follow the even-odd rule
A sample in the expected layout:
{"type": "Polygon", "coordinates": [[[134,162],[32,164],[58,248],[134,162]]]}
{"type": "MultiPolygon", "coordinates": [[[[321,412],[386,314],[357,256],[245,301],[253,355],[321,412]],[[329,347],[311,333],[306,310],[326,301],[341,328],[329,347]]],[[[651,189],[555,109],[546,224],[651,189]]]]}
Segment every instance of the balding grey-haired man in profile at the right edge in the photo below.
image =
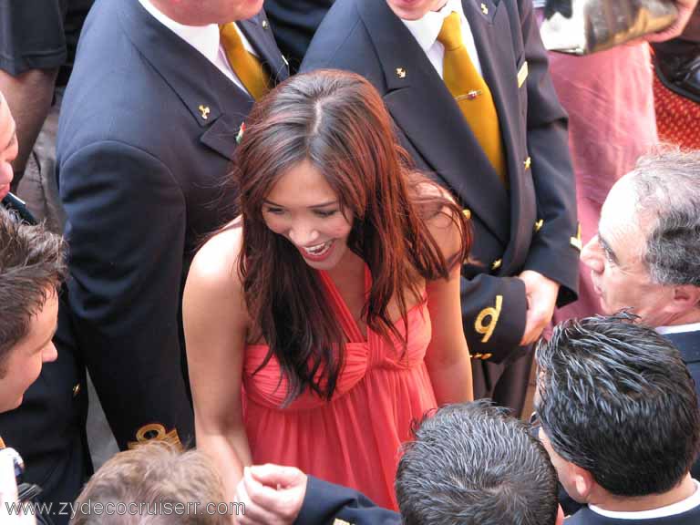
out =
{"type": "Polygon", "coordinates": [[[582,262],[603,312],[630,308],[678,346],[700,398],[698,210],[700,152],[645,156],[608,193],[582,262]]]}

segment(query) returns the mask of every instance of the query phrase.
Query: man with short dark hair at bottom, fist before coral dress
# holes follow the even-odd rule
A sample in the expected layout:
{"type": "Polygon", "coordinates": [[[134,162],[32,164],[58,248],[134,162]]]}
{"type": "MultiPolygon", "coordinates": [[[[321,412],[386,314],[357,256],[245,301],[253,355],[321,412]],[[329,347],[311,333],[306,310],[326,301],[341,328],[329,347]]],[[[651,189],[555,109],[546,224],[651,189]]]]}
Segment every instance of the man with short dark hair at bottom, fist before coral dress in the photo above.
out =
{"type": "Polygon", "coordinates": [[[417,428],[396,472],[400,514],[374,506],[355,490],[276,465],[248,468],[237,499],[245,503],[245,514],[237,518],[241,525],[563,521],[547,452],[520,419],[485,400],[441,407],[417,428]]]}

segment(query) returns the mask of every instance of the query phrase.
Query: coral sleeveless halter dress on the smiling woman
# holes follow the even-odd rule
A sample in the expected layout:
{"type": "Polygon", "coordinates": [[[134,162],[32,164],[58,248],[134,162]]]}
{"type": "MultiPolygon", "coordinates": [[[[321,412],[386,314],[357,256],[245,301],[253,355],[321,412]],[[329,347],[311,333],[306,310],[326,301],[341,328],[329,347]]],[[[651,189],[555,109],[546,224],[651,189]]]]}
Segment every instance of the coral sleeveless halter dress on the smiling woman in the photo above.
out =
{"type": "MultiPolygon", "coordinates": [[[[407,312],[404,353],[367,327],[360,332],[331,278],[320,272],[328,303],[345,332],[345,366],[330,401],[305,391],[281,408],[287,382],[273,357],[257,374],[267,345],[248,345],[243,365],[244,422],[252,462],[278,463],[361,490],[376,504],[396,510],[394,478],[399,446],[414,420],[437,406],[424,363],[431,325],[427,302],[407,312]]],[[[365,291],[371,276],[365,268],[365,291]]],[[[396,323],[405,335],[403,321],[396,323]]]]}

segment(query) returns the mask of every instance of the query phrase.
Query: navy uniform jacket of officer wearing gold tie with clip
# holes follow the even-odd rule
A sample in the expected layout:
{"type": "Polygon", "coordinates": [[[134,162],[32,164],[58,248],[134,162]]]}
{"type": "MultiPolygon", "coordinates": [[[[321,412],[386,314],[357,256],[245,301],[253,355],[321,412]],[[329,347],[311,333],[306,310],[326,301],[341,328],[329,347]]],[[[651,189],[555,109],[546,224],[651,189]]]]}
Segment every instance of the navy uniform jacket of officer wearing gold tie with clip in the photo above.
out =
{"type": "Polygon", "coordinates": [[[554,93],[529,0],[462,0],[499,112],[506,190],[416,39],[384,0],[336,0],[302,71],[333,67],[366,77],[384,98],[417,167],[437,176],[471,217],[474,246],[462,279],[473,356],[499,362],[520,343],[527,301],[513,278],[530,269],[578,289],[581,247],[567,117],[554,93]]]}

